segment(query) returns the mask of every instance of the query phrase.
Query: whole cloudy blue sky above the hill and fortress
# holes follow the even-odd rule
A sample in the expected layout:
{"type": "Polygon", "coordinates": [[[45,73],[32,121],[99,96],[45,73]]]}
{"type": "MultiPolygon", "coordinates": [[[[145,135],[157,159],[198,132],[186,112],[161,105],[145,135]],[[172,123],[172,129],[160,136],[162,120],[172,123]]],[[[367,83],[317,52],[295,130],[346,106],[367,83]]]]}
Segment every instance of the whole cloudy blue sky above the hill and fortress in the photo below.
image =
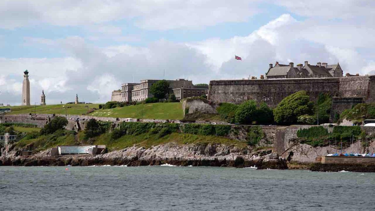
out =
{"type": "Polygon", "coordinates": [[[111,99],[141,79],[242,79],[269,64],[374,73],[372,0],[1,0],[0,103],[111,99]],[[242,57],[235,60],[234,56],[242,57]],[[165,76],[163,76],[165,72],[165,76]]]}

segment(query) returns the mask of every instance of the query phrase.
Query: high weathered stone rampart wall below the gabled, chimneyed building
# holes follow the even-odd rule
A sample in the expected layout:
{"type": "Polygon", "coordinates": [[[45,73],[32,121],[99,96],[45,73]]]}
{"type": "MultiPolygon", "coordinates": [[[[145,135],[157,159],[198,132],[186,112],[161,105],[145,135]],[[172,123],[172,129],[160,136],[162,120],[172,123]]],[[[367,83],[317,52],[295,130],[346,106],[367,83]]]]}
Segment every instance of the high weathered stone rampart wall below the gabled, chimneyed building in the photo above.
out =
{"type": "Polygon", "coordinates": [[[255,80],[210,81],[208,100],[215,103],[242,103],[246,100],[266,102],[275,107],[297,91],[306,91],[311,100],[319,93],[337,97],[363,97],[365,102],[375,99],[375,76],[353,76],[347,78],[291,78],[255,80]]]}

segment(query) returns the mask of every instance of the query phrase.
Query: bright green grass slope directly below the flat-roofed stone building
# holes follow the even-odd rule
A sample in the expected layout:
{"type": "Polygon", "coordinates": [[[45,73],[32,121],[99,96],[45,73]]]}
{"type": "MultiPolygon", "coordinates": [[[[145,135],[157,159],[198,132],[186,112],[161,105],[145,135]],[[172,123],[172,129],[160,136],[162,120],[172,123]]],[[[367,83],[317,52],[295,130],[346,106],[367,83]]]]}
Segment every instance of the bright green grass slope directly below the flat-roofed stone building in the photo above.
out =
{"type": "Polygon", "coordinates": [[[148,103],[99,109],[90,113],[90,115],[98,117],[180,120],[183,118],[183,111],[181,103],[148,103]]]}

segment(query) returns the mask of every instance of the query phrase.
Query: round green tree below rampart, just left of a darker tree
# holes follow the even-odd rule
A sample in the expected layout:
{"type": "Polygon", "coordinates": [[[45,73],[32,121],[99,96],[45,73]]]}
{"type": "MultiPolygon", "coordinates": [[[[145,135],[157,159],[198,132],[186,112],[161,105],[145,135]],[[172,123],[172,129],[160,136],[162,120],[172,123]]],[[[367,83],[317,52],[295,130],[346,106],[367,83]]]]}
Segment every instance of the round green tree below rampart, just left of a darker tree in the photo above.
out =
{"type": "Polygon", "coordinates": [[[236,121],[240,124],[251,124],[256,120],[257,103],[254,100],[243,102],[236,109],[236,121]]]}

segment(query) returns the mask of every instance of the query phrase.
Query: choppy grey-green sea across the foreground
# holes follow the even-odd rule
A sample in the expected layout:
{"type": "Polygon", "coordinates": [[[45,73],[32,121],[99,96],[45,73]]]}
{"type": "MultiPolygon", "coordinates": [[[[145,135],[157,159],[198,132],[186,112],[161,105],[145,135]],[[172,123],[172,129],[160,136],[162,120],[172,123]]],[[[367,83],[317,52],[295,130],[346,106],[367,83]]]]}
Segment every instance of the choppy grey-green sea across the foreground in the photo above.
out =
{"type": "Polygon", "coordinates": [[[0,210],[375,210],[375,174],[216,167],[0,167],[0,210]]]}

